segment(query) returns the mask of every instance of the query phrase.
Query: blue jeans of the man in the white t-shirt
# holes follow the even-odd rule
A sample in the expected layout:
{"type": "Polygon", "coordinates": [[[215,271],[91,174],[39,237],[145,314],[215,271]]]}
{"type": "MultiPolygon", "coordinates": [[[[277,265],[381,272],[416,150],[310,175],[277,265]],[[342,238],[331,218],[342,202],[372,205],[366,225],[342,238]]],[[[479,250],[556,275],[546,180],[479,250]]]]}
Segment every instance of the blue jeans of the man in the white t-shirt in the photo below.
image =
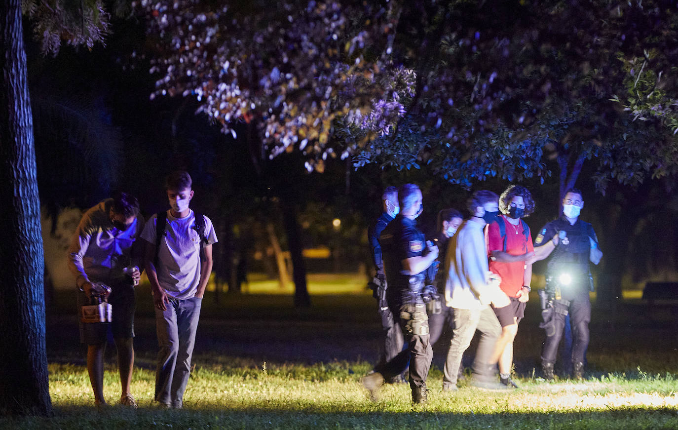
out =
{"type": "Polygon", "coordinates": [[[160,347],[155,372],[155,401],[172,408],[181,408],[184,403],[202,302],[196,297],[170,299],[167,310],[155,309],[160,347]]]}

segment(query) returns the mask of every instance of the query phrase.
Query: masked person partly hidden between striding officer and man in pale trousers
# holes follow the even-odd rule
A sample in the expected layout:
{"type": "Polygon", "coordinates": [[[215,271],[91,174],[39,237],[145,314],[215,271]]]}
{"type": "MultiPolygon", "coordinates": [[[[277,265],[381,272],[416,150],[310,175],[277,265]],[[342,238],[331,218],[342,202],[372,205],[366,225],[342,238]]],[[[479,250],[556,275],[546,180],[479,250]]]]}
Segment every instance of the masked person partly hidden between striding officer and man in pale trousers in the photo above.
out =
{"type": "MultiPolygon", "coordinates": [[[[428,330],[431,332],[431,338],[429,342],[431,345],[435,345],[438,340],[443,335],[445,329],[454,330],[454,312],[452,308],[447,306],[445,300],[445,271],[441,267],[441,262],[445,262],[445,256],[447,255],[447,244],[450,243],[450,238],[454,236],[454,233],[459,229],[459,226],[464,222],[464,217],[461,212],[456,209],[443,209],[438,212],[438,222],[437,222],[437,235],[433,239],[433,243],[438,247],[439,254],[435,262],[435,265],[431,265],[431,268],[435,267],[435,275],[431,277],[435,279],[434,286],[438,292],[441,300],[432,300],[426,305],[426,311],[428,312],[428,330]]],[[[429,271],[431,271],[431,268],[429,271]]],[[[450,345],[447,347],[448,351],[450,345]]],[[[449,353],[446,355],[447,358],[451,357],[449,353]]],[[[443,370],[443,391],[452,390],[452,386],[456,388],[456,381],[460,374],[462,374],[463,365],[460,364],[457,369],[448,368],[447,360],[445,360],[445,367],[443,370]],[[456,372],[457,376],[452,378],[450,372],[456,372]],[[454,381],[454,382],[453,382],[454,381]]]]}

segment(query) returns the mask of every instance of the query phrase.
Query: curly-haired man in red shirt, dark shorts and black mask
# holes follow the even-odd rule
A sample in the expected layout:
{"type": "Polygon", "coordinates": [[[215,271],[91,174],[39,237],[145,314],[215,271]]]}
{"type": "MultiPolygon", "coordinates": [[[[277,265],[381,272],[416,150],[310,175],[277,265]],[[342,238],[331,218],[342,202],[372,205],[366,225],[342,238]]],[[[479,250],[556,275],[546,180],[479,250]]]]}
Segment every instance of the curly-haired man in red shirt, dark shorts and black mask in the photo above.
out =
{"type": "Polygon", "coordinates": [[[532,214],[534,200],[525,187],[511,185],[499,197],[499,210],[502,214],[487,227],[490,271],[499,275],[499,288],[511,299],[509,306],[494,308],[502,325],[498,340],[498,347],[503,345],[499,373],[504,385],[517,388],[511,380],[513,339],[529,299],[532,262],[535,260],[530,227],[521,218],[532,214]]]}

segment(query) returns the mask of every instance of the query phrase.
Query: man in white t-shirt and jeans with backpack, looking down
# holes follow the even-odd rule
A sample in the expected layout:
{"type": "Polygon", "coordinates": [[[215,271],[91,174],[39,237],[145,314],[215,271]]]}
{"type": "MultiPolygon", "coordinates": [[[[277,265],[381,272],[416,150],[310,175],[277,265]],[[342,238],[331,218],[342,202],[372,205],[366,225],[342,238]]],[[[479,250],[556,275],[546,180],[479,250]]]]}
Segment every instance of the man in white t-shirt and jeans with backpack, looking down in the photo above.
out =
{"type": "Polygon", "coordinates": [[[171,208],[151,216],[141,234],[149,243],[145,265],[160,346],[155,401],[169,408],[183,406],[200,308],[212,272],[212,243],[217,241],[210,218],[188,208],[191,184],[188,172],[169,174],[165,190],[171,208]]]}

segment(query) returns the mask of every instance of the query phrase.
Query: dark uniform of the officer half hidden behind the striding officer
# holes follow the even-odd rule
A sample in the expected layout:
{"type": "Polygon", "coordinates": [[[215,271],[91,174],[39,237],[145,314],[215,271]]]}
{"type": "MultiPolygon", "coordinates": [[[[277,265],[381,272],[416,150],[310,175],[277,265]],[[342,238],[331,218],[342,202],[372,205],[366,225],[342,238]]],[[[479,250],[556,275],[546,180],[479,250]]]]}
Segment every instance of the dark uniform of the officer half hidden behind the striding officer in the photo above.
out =
{"type": "Polygon", "coordinates": [[[391,309],[388,309],[386,302],[386,275],[384,275],[384,264],[382,262],[382,248],[379,243],[379,236],[386,226],[393,221],[393,217],[386,212],[376,220],[372,228],[367,231],[367,239],[370,241],[370,250],[372,251],[372,260],[376,275],[370,287],[373,289],[373,296],[377,299],[377,307],[381,318],[382,330],[384,331],[384,351],[379,357],[379,363],[384,364],[403,350],[403,332],[393,321],[391,309]]]}

